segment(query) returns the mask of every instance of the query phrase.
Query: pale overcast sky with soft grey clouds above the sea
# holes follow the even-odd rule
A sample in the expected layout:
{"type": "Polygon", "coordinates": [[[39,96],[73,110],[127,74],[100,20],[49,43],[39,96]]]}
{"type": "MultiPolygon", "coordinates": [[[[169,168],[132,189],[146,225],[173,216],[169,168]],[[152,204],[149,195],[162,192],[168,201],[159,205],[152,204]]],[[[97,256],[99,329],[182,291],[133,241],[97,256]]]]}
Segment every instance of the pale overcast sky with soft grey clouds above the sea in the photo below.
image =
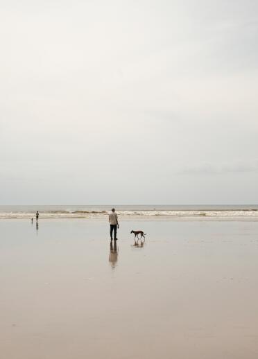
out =
{"type": "Polygon", "coordinates": [[[0,204],[257,204],[256,0],[1,0],[0,204]]]}

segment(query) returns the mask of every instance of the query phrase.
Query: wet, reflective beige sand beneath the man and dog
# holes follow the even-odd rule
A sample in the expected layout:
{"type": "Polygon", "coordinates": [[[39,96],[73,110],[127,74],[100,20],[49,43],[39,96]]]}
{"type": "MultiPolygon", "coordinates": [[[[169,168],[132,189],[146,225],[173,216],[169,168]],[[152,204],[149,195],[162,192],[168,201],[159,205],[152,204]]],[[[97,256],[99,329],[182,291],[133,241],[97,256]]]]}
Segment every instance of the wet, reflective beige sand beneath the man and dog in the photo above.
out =
{"type": "Polygon", "coordinates": [[[1,358],[258,358],[258,222],[123,220],[111,252],[108,230],[1,220],[1,358]]]}

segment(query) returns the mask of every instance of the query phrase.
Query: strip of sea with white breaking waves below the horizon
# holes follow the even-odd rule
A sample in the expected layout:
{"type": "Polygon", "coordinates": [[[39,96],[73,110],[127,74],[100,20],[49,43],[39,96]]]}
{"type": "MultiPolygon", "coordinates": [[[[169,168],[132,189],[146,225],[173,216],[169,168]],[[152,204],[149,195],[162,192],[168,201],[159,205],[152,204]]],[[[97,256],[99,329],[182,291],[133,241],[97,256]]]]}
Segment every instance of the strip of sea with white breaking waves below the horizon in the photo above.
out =
{"type": "Polygon", "coordinates": [[[49,205],[0,206],[0,219],[106,218],[112,207],[120,218],[191,220],[258,220],[258,205],[49,205]]]}

